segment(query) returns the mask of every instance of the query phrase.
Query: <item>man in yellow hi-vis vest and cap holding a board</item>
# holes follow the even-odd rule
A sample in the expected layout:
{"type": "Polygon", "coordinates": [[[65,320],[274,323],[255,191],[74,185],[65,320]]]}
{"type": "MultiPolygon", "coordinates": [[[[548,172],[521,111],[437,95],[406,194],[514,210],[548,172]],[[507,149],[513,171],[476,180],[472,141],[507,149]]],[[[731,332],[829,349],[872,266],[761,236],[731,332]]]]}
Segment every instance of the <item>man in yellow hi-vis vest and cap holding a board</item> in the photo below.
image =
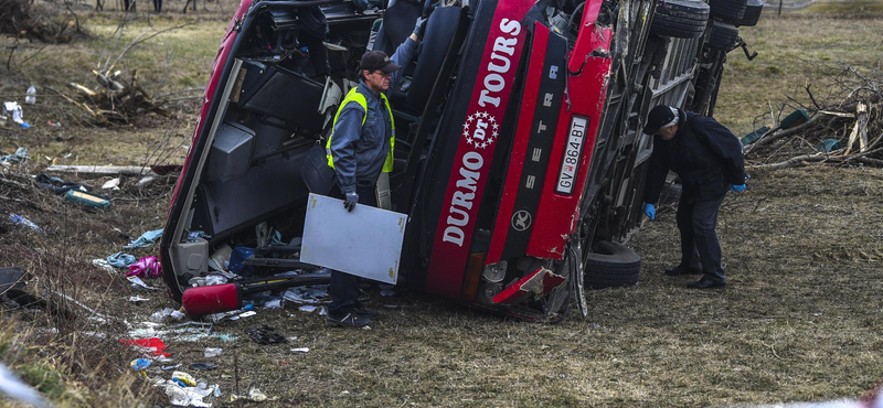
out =
{"type": "MultiPolygon", "coordinates": [[[[347,94],[334,116],[326,151],[328,165],[337,173],[338,186],[345,197],[343,206],[348,211],[353,211],[357,203],[376,206],[377,179],[381,172],[392,171],[395,122],[386,92],[402,79],[400,69],[414,56],[425,22],[426,19],[417,19],[414,33],[392,57],[382,51],[362,55],[359,86],[347,94]]],[[[328,324],[361,328],[379,314],[359,302],[359,277],[332,270],[330,289],[328,324]]]]}

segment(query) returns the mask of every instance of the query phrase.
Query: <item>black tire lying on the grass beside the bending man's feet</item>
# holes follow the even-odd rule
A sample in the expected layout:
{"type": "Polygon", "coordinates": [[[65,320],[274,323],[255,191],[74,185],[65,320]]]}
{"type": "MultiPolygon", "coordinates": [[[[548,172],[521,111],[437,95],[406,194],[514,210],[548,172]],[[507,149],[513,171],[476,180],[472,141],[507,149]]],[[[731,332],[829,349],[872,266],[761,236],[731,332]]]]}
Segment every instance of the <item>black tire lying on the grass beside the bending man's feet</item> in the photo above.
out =
{"type": "Polygon", "coordinates": [[[623,244],[603,240],[597,253],[588,254],[585,267],[585,286],[604,289],[638,283],[641,257],[623,244]]]}

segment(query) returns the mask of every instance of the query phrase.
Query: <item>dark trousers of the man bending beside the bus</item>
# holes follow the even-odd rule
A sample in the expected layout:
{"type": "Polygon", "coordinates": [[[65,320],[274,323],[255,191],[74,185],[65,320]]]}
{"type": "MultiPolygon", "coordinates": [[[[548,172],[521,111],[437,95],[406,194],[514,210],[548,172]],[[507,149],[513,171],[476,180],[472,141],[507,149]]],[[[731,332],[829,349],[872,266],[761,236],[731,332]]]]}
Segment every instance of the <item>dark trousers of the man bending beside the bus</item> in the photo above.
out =
{"type": "Polygon", "coordinates": [[[726,282],[721,264],[721,244],[717,241],[717,210],[723,203],[720,198],[691,202],[684,192],[678,203],[678,230],[681,232],[681,266],[695,265],[695,257],[702,262],[705,278],[726,282]]]}

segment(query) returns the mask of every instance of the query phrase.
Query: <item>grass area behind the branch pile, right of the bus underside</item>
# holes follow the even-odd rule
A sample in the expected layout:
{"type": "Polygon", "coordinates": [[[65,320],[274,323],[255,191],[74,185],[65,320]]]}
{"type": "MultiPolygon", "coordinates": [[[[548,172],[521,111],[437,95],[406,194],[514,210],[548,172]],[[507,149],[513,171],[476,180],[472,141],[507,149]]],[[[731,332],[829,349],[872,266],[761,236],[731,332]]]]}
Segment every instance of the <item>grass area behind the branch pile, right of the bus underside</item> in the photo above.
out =
{"type": "Polygon", "coordinates": [[[740,28],[740,35],[758,55],[753,61],[741,50],[727,55],[714,110],[736,136],[769,126],[770,116],[789,114],[791,107],[783,110],[786,103],[810,106],[807,85],[817,98],[823,97],[833,66],[875,66],[883,57],[883,19],[764,14],[757,26],[740,28]]]}

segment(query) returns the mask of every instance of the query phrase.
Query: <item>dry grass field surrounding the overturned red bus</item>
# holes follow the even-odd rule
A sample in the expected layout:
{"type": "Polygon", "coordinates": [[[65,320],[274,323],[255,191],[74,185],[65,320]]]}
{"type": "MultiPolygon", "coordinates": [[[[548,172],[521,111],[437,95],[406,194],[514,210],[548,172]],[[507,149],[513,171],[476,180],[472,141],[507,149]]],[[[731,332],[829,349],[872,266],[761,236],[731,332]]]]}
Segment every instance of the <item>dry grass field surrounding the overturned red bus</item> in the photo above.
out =
{"type": "MultiPolygon", "coordinates": [[[[182,17],[182,3],[171,4],[174,11],[160,17],[139,14],[123,41],[150,24],[189,24],[121,60],[120,68],[137,68],[153,93],[202,86],[227,24],[222,12],[182,17]]],[[[757,115],[767,112],[772,121],[769,106],[778,109],[786,95],[806,103],[807,83],[823,93],[816,63],[880,64],[883,19],[855,19],[849,3],[841,6],[817,4],[745,29],[759,56],[747,62],[740,51],[731,54],[719,119],[745,133],[759,125],[757,115]]],[[[230,12],[233,4],[222,7],[230,12]]],[[[28,80],[56,89],[94,80],[89,71],[120,14],[81,18],[92,37],[47,46],[22,63],[39,49],[25,43],[12,58],[20,69],[0,68],[0,95],[22,99],[28,80]]],[[[71,107],[49,94],[39,101],[25,106],[34,128],[0,128],[0,150],[24,146],[32,157],[0,170],[0,216],[22,214],[45,233],[0,222],[0,267],[33,273],[50,312],[0,304],[0,362],[60,407],[168,405],[129,368],[139,355],[118,340],[128,336],[127,324],[177,304],[162,291],[129,288],[123,273],[92,260],[161,228],[174,179],[148,187],[124,181],[108,193],[115,198],[109,210],[91,211],[15,174],[39,174],[51,162],[137,165],[158,151],[166,163],[180,163],[199,99],[171,106],[172,118],[147,116],[109,128],[77,124],[71,107]],[[44,125],[58,119],[61,128],[44,125]],[[107,314],[107,322],[88,319],[85,309],[49,290],[107,314]],[[150,300],[136,304],[130,296],[150,300]]],[[[213,329],[235,341],[168,340],[168,352],[178,369],[220,384],[223,396],[208,399],[215,407],[720,407],[858,398],[883,379],[883,171],[815,165],[749,173],[746,193],[728,196],[721,212],[725,290],[688,290],[689,278],[660,272],[678,261],[674,211],[663,206],[628,244],[643,257],[638,286],[587,292],[586,321],[571,315],[560,324],[524,323],[419,293],[382,297],[372,287],[369,304],[383,316],[371,330],[329,329],[315,313],[288,305],[213,329]],[[247,330],[262,324],[288,342],[252,342],[247,330]],[[224,351],[205,358],[205,347],[224,351]],[[190,369],[206,361],[217,368],[190,369]],[[272,400],[231,401],[251,387],[272,400]]],[[[74,180],[100,186],[107,179],[74,180]]],[[[155,363],[148,375],[170,378],[159,367],[167,364],[155,363]]],[[[0,406],[14,405],[0,398],[0,406]]]]}

